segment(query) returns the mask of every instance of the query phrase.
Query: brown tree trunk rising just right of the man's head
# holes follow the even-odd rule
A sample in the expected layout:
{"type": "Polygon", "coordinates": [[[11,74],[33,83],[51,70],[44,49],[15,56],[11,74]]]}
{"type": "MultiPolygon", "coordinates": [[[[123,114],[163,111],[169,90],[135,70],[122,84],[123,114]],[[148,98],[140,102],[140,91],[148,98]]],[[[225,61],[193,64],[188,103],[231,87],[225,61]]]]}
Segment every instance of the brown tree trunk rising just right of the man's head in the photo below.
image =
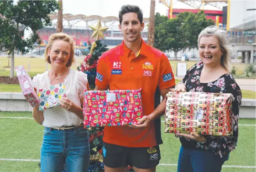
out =
{"type": "Polygon", "coordinates": [[[155,44],[155,7],[156,7],[156,1],[151,0],[149,28],[148,28],[148,35],[147,35],[147,44],[150,46],[154,46],[155,44]]]}

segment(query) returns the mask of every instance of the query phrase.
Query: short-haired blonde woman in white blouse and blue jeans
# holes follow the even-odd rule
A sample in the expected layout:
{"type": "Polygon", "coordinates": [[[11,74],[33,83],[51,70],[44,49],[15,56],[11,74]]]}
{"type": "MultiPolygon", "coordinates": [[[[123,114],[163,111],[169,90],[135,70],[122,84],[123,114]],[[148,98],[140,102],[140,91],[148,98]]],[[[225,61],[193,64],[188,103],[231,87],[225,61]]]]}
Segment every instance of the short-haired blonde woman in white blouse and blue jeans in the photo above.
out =
{"type": "Polygon", "coordinates": [[[87,75],[70,69],[74,62],[73,38],[64,33],[52,34],[45,49],[51,69],[33,78],[35,90],[64,83],[66,97],[60,106],[39,111],[33,118],[45,126],[41,148],[41,172],[87,172],[90,148],[88,131],[83,127],[83,94],[87,75]]]}

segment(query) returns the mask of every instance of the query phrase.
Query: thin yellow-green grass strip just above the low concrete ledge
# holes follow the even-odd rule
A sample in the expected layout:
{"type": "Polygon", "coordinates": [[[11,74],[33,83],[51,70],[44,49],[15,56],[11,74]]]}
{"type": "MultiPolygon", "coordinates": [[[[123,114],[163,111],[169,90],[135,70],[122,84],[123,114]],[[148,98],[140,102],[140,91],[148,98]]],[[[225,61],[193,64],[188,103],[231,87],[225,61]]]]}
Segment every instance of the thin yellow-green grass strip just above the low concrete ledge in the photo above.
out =
{"type": "MultiPolygon", "coordinates": [[[[176,79],[175,82],[178,83],[180,80],[176,79]]],[[[20,85],[14,84],[0,84],[0,92],[21,92],[20,85]]],[[[244,99],[256,99],[256,92],[249,90],[242,90],[242,96],[244,99]]]]}

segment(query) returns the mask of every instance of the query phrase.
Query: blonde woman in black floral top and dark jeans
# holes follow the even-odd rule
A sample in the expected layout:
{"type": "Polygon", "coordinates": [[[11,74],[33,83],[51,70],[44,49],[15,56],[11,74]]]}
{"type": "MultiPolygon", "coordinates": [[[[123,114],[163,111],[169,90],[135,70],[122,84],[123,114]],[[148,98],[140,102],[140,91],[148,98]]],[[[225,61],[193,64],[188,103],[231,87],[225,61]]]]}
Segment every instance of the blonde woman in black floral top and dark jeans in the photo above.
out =
{"type": "Polygon", "coordinates": [[[176,134],[182,144],[178,158],[178,172],[220,172],[229,153],[235,149],[238,138],[238,115],[241,104],[240,87],[230,74],[230,56],[233,46],[227,31],[209,26],[198,37],[201,61],[192,66],[183,80],[172,91],[232,93],[233,134],[209,136],[176,134]]]}

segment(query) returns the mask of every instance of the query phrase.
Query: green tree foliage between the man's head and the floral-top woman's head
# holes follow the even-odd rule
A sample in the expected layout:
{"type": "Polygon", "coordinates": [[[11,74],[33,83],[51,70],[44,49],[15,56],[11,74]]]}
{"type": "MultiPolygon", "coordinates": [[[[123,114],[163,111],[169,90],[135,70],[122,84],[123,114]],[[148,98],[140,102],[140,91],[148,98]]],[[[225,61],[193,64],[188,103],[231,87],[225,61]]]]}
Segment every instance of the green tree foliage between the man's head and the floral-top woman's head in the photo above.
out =
{"type": "Polygon", "coordinates": [[[157,13],[155,47],[161,51],[174,51],[177,59],[178,51],[197,48],[199,33],[209,25],[214,25],[214,21],[207,20],[204,11],[199,11],[198,14],[184,12],[171,20],[157,13]]]}

